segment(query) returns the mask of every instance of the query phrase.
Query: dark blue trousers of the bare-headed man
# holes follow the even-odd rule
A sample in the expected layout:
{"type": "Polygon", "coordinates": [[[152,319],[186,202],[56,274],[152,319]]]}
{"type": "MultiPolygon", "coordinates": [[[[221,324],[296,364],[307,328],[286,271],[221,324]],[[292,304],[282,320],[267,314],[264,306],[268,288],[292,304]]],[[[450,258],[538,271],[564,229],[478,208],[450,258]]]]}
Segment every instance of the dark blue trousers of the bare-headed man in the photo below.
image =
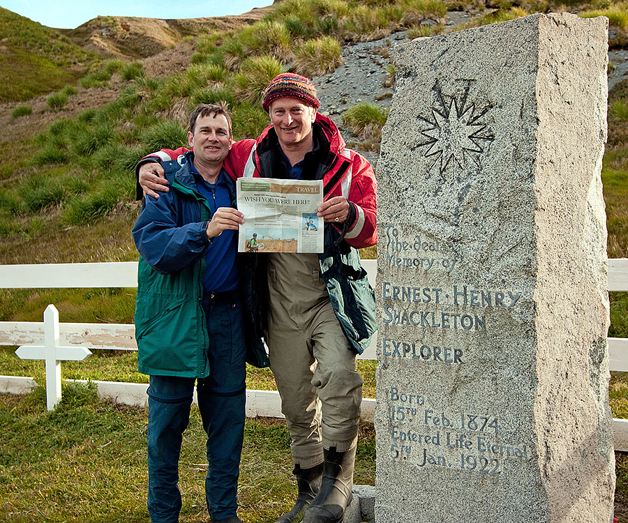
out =
{"type": "MultiPolygon", "coordinates": [[[[246,399],[246,347],[239,303],[208,305],[209,376],[197,380],[197,398],[207,432],[205,478],[207,508],[212,520],[236,515],[237,483],[246,399]]],[[[166,350],[176,350],[167,347],[166,350]]],[[[148,439],[151,522],[178,522],[181,510],[179,454],[190,420],[194,378],[150,377],[148,439]]]]}

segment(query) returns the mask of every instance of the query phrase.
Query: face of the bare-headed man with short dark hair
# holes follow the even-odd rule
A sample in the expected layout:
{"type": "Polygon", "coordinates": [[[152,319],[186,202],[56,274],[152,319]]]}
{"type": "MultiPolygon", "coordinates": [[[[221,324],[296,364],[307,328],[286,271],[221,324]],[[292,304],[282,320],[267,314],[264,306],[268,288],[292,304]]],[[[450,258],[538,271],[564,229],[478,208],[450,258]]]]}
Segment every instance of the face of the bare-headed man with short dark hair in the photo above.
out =
{"type": "Polygon", "coordinates": [[[222,163],[231,149],[229,122],[224,114],[199,116],[194,134],[188,132],[188,143],[194,150],[195,162],[201,165],[222,163]]]}

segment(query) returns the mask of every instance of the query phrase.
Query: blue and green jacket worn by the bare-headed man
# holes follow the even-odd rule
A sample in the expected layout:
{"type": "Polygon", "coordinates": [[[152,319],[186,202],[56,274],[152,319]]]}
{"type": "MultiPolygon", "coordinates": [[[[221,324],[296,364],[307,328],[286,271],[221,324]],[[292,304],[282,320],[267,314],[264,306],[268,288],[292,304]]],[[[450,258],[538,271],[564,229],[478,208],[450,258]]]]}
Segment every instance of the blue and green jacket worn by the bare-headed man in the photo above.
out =
{"type": "MultiPolygon", "coordinates": [[[[190,173],[190,153],[184,165],[163,162],[170,192],[147,205],[133,227],[140,252],[135,304],[138,367],[144,374],[204,378],[209,375],[208,334],[202,307],[204,252],[209,245],[211,209],[197,191],[190,173]]],[[[234,184],[230,183],[232,201],[234,184]]],[[[262,340],[253,335],[251,312],[244,293],[243,315],[247,361],[267,367],[262,340]]]]}

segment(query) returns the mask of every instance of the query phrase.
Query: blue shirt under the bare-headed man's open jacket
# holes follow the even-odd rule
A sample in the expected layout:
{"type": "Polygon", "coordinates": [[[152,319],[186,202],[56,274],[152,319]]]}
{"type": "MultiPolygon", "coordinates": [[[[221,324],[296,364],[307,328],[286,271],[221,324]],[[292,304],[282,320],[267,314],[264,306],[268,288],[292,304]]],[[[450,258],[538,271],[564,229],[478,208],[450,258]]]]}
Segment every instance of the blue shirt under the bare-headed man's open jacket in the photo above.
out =
{"type": "MultiPolygon", "coordinates": [[[[211,215],[218,207],[231,207],[232,202],[227,190],[227,184],[233,183],[220,169],[216,183],[207,183],[190,162],[190,172],[194,175],[196,188],[207,199],[211,215]]],[[[238,287],[238,268],[235,263],[235,255],[238,250],[237,231],[223,231],[220,236],[211,238],[211,243],[205,250],[205,273],[203,276],[203,289],[205,294],[211,292],[234,291],[238,287]]]]}

